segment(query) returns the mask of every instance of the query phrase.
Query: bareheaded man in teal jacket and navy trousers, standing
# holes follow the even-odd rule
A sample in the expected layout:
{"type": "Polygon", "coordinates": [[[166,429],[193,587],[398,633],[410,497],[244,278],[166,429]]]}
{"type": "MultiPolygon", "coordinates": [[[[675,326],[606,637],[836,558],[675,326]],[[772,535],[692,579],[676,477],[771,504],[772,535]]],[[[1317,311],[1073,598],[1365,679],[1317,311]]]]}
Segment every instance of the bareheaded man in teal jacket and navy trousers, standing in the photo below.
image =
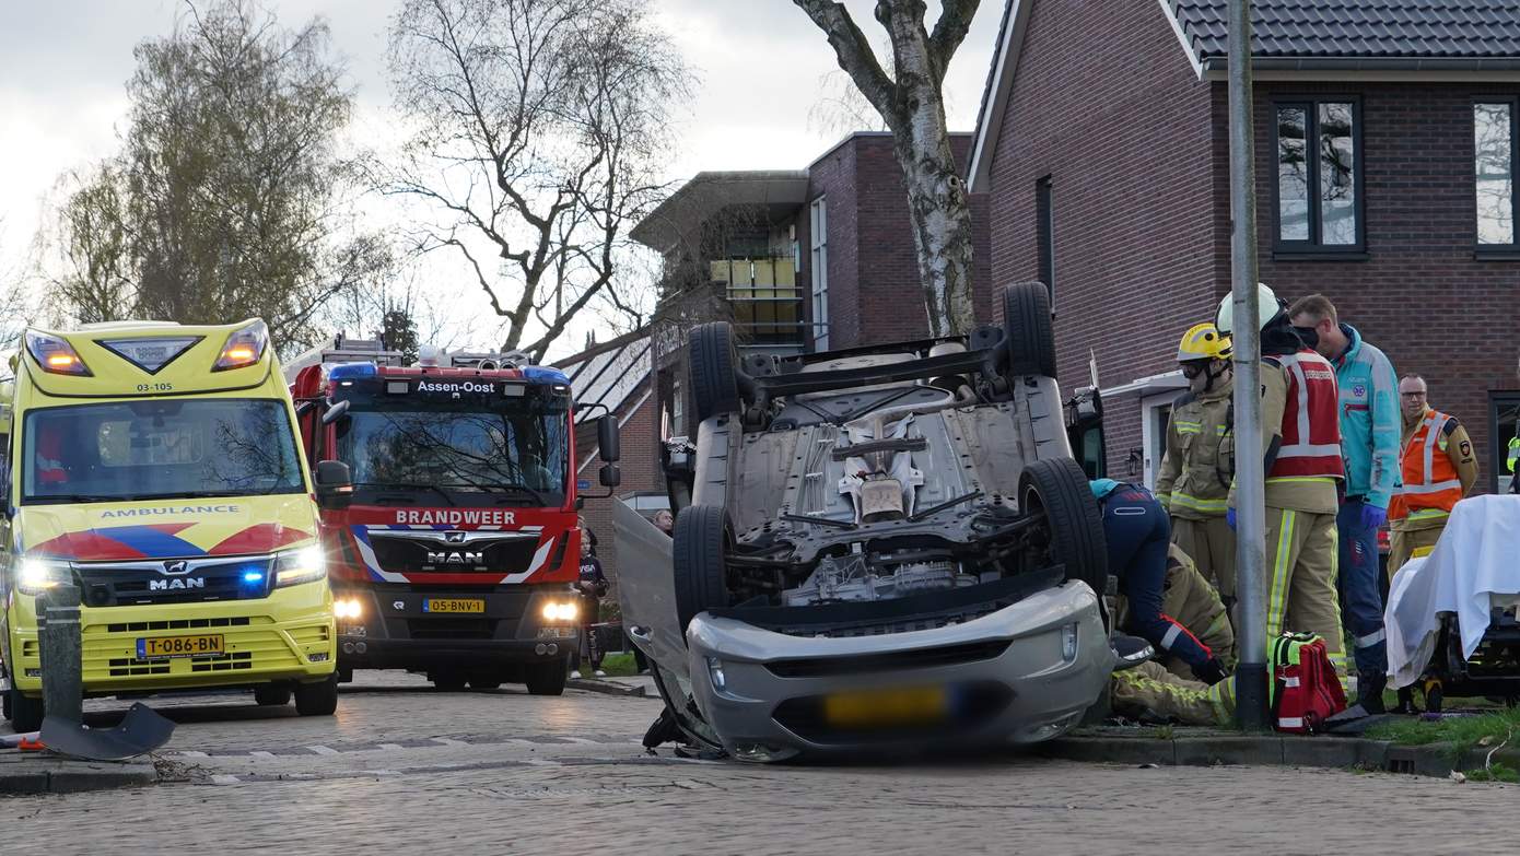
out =
{"type": "Polygon", "coordinates": [[[1377,531],[1398,482],[1398,380],[1383,351],[1342,324],[1324,295],[1300,298],[1287,315],[1304,341],[1330,360],[1341,388],[1341,455],[1345,494],[1336,514],[1339,588],[1345,623],[1356,640],[1357,702],[1383,713],[1388,642],[1379,590],[1377,531]]]}

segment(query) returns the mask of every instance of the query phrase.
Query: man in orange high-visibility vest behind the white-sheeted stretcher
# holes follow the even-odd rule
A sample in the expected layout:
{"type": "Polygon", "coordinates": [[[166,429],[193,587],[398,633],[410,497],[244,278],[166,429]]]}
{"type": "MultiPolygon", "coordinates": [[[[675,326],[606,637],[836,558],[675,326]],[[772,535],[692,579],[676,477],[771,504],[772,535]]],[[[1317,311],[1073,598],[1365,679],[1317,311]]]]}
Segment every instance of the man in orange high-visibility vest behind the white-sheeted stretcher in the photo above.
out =
{"type": "Polygon", "coordinates": [[[1391,549],[1388,573],[1397,572],[1418,547],[1433,547],[1452,506],[1477,483],[1473,441],[1456,417],[1430,409],[1418,374],[1398,382],[1404,417],[1401,483],[1388,506],[1391,549]]]}

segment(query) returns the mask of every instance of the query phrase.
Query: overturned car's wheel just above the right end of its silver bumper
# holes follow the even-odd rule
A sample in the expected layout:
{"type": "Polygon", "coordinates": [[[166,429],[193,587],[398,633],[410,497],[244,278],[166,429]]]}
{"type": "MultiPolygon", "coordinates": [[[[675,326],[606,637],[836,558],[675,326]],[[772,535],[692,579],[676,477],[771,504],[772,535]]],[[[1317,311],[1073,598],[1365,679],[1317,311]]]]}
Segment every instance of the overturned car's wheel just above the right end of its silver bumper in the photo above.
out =
{"type": "Polygon", "coordinates": [[[1108,543],[1104,512],[1082,465],[1070,458],[1029,464],[1018,476],[1018,508],[1024,514],[1044,515],[1050,564],[1066,566],[1066,578],[1085,582],[1102,607],[1108,590],[1108,543]]]}

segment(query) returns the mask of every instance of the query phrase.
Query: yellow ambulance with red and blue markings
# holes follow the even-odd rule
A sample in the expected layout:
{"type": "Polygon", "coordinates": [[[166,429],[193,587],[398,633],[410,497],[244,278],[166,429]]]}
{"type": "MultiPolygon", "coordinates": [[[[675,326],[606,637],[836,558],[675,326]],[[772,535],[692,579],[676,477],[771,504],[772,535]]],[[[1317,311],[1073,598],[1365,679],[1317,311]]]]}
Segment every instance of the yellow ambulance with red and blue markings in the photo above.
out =
{"type": "Polygon", "coordinates": [[[27,330],[12,368],[0,655],[15,730],[43,718],[36,596],[64,581],[81,588],[85,695],[246,687],[331,715],[313,499],[348,485],[340,464],[309,476],[264,324],[27,330]]]}

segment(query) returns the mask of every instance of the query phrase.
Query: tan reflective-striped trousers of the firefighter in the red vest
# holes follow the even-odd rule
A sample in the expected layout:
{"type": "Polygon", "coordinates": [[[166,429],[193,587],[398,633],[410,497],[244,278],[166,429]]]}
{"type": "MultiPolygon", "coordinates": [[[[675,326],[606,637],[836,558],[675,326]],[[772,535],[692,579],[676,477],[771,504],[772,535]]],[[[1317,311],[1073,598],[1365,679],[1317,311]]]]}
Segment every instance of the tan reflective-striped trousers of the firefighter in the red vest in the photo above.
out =
{"type": "Polygon", "coordinates": [[[1345,684],[1335,514],[1266,506],[1268,645],[1283,629],[1322,636],[1336,675],[1345,684]]]}

